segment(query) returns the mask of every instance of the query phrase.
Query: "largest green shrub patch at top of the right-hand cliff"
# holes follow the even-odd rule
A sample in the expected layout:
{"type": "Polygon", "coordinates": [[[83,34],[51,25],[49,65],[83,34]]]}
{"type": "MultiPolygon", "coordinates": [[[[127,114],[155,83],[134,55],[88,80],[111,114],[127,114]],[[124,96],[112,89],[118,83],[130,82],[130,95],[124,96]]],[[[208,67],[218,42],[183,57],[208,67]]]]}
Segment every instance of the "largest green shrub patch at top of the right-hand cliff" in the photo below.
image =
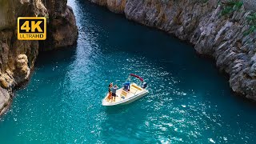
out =
{"type": "Polygon", "coordinates": [[[233,14],[234,11],[240,10],[243,5],[243,2],[238,0],[230,0],[227,2],[222,2],[222,16],[230,16],[230,14],[233,14]]]}

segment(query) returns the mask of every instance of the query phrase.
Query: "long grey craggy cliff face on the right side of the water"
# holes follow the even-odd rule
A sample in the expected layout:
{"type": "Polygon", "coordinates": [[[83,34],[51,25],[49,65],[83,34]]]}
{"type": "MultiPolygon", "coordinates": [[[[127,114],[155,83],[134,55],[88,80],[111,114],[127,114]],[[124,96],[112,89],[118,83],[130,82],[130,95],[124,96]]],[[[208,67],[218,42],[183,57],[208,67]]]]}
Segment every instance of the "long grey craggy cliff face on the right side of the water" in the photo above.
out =
{"type": "Polygon", "coordinates": [[[234,92],[256,100],[256,34],[252,20],[248,22],[254,12],[245,10],[241,2],[233,6],[217,0],[90,1],[194,44],[198,54],[213,57],[218,68],[230,75],[234,92]]]}

